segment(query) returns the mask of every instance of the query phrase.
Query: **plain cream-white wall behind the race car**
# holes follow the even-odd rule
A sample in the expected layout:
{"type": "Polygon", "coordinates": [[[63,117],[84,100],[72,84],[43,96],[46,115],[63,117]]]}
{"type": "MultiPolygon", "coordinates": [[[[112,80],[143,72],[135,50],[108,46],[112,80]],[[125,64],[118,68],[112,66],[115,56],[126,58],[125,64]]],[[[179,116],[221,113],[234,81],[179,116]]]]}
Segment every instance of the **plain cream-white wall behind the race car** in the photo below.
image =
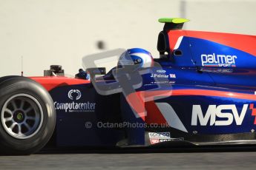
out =
{"type": "Polygon", "coordinates": [[[187,30],[256,34],[256,0],[0,0],[0,76],[42,75],[50,64],[75,74],[82,57],[142,47],[157,57],[161,17],[186,17],[187,30]]]}

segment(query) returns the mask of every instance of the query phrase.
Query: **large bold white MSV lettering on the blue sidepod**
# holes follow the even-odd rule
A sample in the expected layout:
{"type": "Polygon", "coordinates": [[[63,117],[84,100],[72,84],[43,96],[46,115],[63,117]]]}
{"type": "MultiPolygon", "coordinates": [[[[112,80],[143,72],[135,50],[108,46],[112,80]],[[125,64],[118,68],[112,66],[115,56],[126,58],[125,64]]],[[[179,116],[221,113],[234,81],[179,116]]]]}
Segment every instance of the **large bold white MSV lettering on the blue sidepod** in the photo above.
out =
{"type": "Polygon", "coordinates": [[[203,115],[203,111],[200,105],[193,105],[191,126],[197,126],[197,120],[201,126],[228,126],[235,121],[237,125],[243,123],[243,118],[246,115],[248,104],[243,105],[243,109],[240,114],[237,112],[237,107],[234,104],[227,105],[209,105],[206,114],[203,115]],[[217,118],[223,118],[224,120],[217,120],[217,118]],[[209,123],[210,121],[210,123],[209,123]]]}

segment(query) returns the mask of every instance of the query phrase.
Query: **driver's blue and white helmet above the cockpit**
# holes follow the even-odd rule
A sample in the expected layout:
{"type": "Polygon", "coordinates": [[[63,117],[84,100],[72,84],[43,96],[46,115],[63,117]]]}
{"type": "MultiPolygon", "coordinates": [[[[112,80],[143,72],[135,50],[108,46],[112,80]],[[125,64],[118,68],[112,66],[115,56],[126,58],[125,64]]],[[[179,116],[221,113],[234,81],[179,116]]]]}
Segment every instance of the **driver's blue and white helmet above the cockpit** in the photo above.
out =
{"type": "Polygon", "coordinates": [[[117,67],[137,66],[139,68],[152,67],[154,59],[150,52],[141,48],[128,49],[119,57],[117,67]]]}

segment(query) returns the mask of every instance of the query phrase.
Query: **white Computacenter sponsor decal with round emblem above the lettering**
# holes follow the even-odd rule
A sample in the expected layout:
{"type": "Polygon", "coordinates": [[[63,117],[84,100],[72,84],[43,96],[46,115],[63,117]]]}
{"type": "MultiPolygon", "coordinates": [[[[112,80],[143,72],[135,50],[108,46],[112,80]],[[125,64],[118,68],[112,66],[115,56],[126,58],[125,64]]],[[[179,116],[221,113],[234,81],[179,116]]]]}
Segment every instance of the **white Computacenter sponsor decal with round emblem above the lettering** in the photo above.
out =
{"type": "Polygon", "coordinates": [[[56,110],[65,110],[65,112],[94,112],[96,103],[91,101],[77,102],[82,97],[79,89],[71,89],[68,92],[68,98],[72,102],[59,103],[54,102],[56,110]]]}

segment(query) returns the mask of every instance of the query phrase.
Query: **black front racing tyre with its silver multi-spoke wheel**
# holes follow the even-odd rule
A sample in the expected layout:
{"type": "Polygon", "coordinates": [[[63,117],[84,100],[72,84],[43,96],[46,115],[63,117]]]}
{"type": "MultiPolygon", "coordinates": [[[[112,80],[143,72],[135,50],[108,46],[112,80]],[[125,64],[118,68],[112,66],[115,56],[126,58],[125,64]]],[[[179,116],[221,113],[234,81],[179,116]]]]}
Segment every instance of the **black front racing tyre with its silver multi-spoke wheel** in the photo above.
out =
{"type": "Polygon", "coordinates": [[[30,78],[0,78],[0,154],[39,151],[55,124],[53,100],[44,87],[30,78]]]}

